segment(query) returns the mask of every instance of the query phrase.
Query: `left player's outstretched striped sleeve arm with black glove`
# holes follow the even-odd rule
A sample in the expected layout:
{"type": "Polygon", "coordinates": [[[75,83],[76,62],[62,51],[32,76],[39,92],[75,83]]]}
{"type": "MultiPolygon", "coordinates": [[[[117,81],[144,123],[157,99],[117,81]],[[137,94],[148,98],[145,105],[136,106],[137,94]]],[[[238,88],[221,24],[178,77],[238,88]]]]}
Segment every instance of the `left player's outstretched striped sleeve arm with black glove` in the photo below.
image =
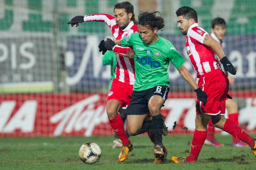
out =
{"type": "Polygon", "coordinates": [[[78,15],[72,18],[68,24],[71,24],[73,27],[78,27],[78,23],[82,22],[90,22],[90,21],[96,21],[96,22],[105,22],[109,27],[112,27],[116,24],[116,19],[114,16],[109,14],[92,14],[92,15],[78,15]]]}

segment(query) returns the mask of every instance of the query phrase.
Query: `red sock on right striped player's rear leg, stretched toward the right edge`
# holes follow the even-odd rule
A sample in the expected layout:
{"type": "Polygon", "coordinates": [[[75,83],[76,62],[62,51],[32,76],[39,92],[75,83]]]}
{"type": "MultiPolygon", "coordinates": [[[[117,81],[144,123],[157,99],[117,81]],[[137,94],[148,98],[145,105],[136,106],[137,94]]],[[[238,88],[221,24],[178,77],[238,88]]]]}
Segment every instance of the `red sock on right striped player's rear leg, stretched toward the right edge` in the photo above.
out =
{"type": "Polygon", "coordinates": [[[224,124],[224,127],[222,128],[223,131],[228,132],[231,134],[233,137],[247,143],[251,148],[254,147],[255,142],[250,135],[248,135],[244,129],[239,127],[237,124],[235,124],[233,121],[230,119],[226,119],[226,122],[224,124]]]}

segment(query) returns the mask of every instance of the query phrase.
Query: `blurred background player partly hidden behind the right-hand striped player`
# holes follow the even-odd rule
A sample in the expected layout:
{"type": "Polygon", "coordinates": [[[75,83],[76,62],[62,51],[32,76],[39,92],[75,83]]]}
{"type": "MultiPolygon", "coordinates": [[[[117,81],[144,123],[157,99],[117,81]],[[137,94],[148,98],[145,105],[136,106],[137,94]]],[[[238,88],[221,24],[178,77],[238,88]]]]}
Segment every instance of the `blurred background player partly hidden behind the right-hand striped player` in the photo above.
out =
{"type": "MultiPolygon", "coordinates": [[[[226,33],[226,22],[224,19],[222,18],[215,18],[212,20],[212,33],[211,36],[213,39],[215,39],[220,46],[223,48],[222,43],[223,43],[223,38],[225,36],[226,33]]],[[[219,59],[219,57],[217,55],[215,55],[216,59],[219,59]]],[[[234,78],[228,75],[228,72],[224,70],[223,65],[221,63],[219,63],[221,66],[221,69],[223,72],[226,73],[226,75],[228,76],[228,80],[229,82],[233,85],[234,84],[234,78]]],[[[237,103],[226,97],[226,109],[228,110],[228,118],[231,121],[234,121],[236,124],[238,123],[238,106],[237,103]]],[[[217,142],[217,140],[214,137],[214,132],[215,132],[215,127],[212,124],[212,121],[209,121],[208,127],[207,127],[207,137],[206,140],[204,141],[204,144],[206,145],[211,145],[211,146],[215,146],[215,147],[220,147],[220,146],[224,146],[223,144],[217,142]]],[[[242,141],[240,141],[239,139],[233,137],[233,143],[232,146],[234,147],[247,147],[248,145],[242,141]]]]}

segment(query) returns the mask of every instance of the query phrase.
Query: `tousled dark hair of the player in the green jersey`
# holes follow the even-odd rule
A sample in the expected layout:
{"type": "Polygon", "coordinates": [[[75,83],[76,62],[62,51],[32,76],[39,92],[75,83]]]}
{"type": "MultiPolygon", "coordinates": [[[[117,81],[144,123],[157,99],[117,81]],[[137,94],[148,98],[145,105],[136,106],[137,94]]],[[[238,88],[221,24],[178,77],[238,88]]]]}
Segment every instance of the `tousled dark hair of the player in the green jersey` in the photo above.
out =
{"type": "Polygon", "coordinates": [[[152,13],[149,12],[140,12],[139,13],[139,25],[149,26],[148,28],[153,30],[157,28],[161,30],[165,26],[165,21],[161,17],[161,13],[159,11],[155,11],[152,13]]]}

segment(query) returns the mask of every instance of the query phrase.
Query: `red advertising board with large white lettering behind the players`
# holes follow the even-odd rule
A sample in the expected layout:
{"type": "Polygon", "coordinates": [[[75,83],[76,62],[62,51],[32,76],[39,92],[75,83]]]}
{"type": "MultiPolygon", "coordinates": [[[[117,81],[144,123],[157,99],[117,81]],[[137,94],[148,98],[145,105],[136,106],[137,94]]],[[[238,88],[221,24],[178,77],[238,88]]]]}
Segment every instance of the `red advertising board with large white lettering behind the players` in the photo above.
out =
{"type": "MultiPolygon", "coordinates": [[[[240,124],[256,132],[256,92],[233,92],[246,101],[240,124]]],[[[194,131],[194,93],[170,93],[161,112],[171,134],[194,131]],[[172,127],[176,121],[176,128],[172,127]],[[185,128],[184,128],[185,127],[185,128]]],[[[220,131],[219,131],[220,132],[220,131]]],[[[112,135],[106,94],[8,94],[0,96],[0,136],[112,135]]]]}

